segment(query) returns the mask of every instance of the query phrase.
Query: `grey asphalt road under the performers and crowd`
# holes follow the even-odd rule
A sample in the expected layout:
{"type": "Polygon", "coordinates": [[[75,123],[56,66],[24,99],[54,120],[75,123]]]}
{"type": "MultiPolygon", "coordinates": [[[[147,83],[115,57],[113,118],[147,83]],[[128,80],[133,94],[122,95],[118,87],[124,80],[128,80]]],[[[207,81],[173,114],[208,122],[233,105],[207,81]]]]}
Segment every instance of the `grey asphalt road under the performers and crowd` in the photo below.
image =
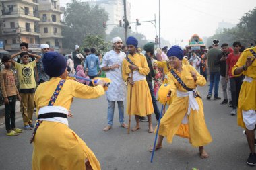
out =
{"type": "MultiPolygon", "coordinates": [[[[154,134],[148,133],[148,122],[141,122],[141,129],[127,134],[120,127],[117,104],[114,125],[108,132],[106,126],[106,98],[82,100],[74,99],[71,110],[74,118],[69,118],[69,126],[94,151],[103,170],[117,169],[255,169],[246,164],[249,155],[243,129],[236,124],[236,116],[230,116],[231,108],[220,105],[221,101],[207,101],[208,86],[199,87],[203,96],[205,120],[212,134],[213,142],[205,146],[210,157],[201,159],[198,148],[194,148],[185,138],[174,137],[172,144],[166,140],[163,148],[156,151],[153,163],[148,148],[153,145],[154,134]]],[[[220,89],[221,90],[221,89],[220,89]]],[[[222,97],[221,92],[219,92],[222,97]]],[[[160,105],[159,105],[160,108],[160,105]]],[[[22,128],[18,114],[17,127],[22,128]]],[[[128,116],[125,115],[127,122],[128,116]]],[[[153,125],[156,126],[154,116],[153,125]]],[[[131,127],[135,119],[131,120],[131,127]]],[[[5,126],[0,126],[0,169],[31,169],[32,144],[29,143],[32,131],[19,136],[6,136],[5,126]]]]}

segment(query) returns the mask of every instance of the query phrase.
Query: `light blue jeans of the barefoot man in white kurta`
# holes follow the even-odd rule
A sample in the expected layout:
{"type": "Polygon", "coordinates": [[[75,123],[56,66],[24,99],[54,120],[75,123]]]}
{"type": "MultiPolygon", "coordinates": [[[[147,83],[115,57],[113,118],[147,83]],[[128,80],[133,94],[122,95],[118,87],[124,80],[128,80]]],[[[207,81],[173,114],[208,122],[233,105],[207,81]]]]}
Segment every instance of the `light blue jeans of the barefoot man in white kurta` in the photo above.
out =
{"type": "MultiPolygon", "coordinates": [[[[123,124],[124,122],[124,105],[123,101],[117,101],[118,104],[118,111],[119,111],[119,122],[123,124]]],[[[108,125],[113,125],[113,118],[114,118],[114,111],[115,111],[115,101],[108,101],[108,125]]]]}

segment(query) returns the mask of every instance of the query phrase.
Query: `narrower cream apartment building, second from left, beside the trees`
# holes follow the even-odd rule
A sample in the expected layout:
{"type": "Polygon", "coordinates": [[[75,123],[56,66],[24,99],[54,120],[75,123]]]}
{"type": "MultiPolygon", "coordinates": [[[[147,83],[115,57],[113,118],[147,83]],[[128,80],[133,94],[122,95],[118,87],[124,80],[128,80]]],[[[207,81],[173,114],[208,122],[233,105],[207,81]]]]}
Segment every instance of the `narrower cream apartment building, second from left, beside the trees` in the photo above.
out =
{"type": "Polygon", "coordinates": [[[60,51],[62,48],[61,14],[63,11],[59,0],[39,0],[38,11],[40,16],[40,44],[49,44],[50,48],[60,51]]]}

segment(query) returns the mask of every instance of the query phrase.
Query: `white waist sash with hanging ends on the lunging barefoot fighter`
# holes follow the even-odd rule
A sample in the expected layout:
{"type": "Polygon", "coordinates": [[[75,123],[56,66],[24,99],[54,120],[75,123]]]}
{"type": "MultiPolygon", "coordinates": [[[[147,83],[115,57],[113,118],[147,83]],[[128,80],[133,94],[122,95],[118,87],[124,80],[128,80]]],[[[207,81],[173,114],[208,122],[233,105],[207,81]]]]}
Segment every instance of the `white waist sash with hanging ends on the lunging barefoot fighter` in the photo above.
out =
{"type": "MultiPolygon", "coordinates": [[[[193,91],[197,92],[197,89],[193,89],[193,91]]],[[[187,97],[189,96],[189,108],[187,109],[187,114],[185,115],[185,117],[183,118],[182,123],[183,124],[187,124],[188,120],[187,120],[187,115],[190,115],[191,112],[191,108],[193,110],[199,110],[199,105],[197,103],[197,100],[195,99],[195,97],[193,97],[193,91],[187,91],[187,92],[183,92],[183,91],[179,91],[177,90],[177,97],[187,97]]]]}

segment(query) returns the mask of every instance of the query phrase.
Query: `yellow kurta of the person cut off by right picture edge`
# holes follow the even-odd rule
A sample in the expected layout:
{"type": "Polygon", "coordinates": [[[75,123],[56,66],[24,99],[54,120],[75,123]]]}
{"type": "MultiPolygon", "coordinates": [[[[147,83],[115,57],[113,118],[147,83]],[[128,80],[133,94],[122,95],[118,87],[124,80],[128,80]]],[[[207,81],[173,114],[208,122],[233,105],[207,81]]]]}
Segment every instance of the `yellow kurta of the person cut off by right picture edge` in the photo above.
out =
{"type": "MultiPolygon", "coordinates": [[[[253,49],[256,52],[256,47],[249,48],[245,50],[236,65],[232,67],[232,75],[234,75],[234,70],[238,67],[245,65],[247,57],[253,56],[250,49],[253,49]]],[[[240,89],[239,99],[238,99],[238,108],[237,108],[237,122],[239,126],[245,128],[245,123],[243,122],[242,110],[256,110],[256,61],[253,62],[251,66],[247,68],[246,71],[243,71],[241,74],[253,78],[251,83],[243,81],[243,84],[240,89]]],[[[236,76],[236,75],[234,75],[236,76]]],[[[238,75],[240,76],[240,75],[238,75]]]]}

